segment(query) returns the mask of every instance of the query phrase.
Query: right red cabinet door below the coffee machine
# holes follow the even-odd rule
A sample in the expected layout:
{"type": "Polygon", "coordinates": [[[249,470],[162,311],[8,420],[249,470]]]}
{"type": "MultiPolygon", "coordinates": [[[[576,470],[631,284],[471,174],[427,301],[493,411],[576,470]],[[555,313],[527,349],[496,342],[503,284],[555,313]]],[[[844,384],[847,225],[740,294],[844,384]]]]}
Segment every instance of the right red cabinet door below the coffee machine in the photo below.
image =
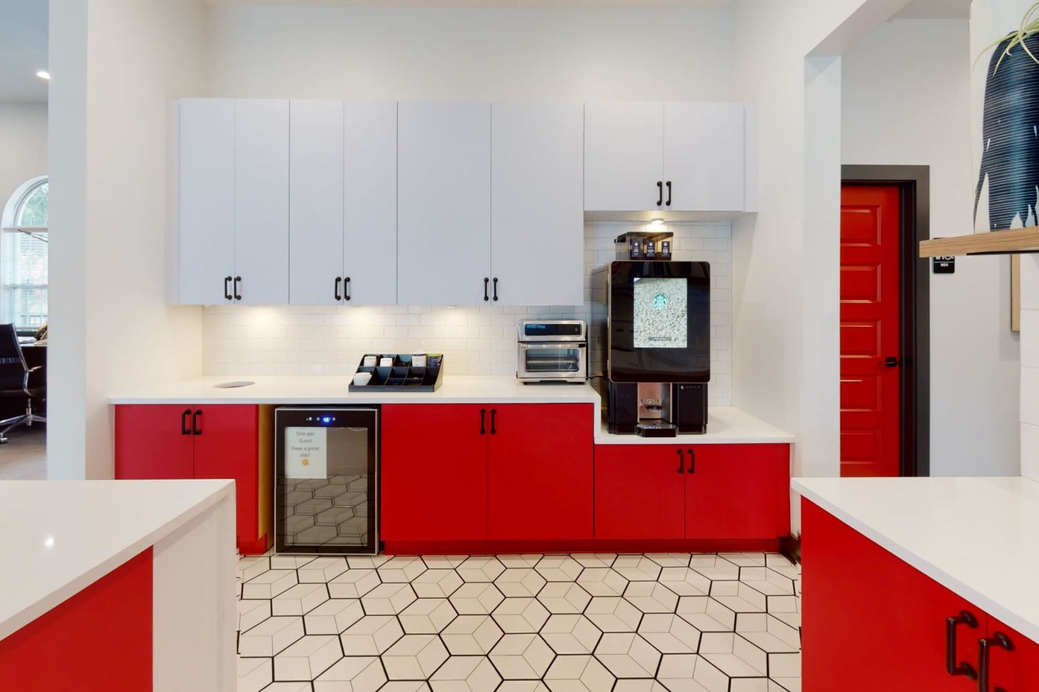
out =
{"type": "Polygon", "coordinates": [[[775,538],[790,533],[790,445],[686,448],[686,537],[775,538]]]}

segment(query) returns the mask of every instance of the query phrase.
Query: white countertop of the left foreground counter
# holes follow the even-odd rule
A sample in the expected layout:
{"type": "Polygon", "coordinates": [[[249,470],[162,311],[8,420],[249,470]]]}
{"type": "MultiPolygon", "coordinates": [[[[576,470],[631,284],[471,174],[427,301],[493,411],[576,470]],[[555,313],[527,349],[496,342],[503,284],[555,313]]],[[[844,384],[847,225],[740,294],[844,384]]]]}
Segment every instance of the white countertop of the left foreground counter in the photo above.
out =
{"type": "Polygon", "coordinates": [[[0,639],[233,495],[230,480],[0,481],[0,639]]]}

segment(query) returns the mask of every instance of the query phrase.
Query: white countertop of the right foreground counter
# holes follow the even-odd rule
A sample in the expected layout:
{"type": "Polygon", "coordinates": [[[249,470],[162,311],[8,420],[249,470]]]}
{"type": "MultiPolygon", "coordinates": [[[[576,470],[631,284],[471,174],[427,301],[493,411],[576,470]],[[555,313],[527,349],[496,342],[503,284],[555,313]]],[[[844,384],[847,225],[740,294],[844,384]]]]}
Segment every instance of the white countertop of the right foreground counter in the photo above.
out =
{"type": "Polygon", "coordinates": [[[795,478],[793,488],[978,608],[1039,641],[1039,482],[795,478]]]}

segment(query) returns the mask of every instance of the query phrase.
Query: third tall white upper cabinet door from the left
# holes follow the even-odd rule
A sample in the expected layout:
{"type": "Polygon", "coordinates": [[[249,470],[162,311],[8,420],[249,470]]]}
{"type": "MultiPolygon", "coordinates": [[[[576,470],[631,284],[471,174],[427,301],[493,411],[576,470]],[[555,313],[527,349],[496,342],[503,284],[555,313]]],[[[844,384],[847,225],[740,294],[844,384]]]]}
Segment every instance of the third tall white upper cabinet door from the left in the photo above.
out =
{"type": "Polygon", "coordinates": [[[343,102],[293,101],[289,112],[289,302],[342,302],[343,102]],[[337,290],[339,300],[337,300],[337,290]]]}

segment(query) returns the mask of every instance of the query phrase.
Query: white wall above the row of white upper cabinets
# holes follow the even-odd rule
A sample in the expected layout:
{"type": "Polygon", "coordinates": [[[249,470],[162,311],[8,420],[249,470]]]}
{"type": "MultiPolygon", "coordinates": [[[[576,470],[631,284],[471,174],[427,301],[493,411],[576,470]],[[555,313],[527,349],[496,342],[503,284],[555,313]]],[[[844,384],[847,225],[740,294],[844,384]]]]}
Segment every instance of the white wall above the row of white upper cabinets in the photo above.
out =
{"type": "Polygon", "coordinates": [[[724,100],[714,9],[214,7],[213,93],[387,100],[724,100]]]}

